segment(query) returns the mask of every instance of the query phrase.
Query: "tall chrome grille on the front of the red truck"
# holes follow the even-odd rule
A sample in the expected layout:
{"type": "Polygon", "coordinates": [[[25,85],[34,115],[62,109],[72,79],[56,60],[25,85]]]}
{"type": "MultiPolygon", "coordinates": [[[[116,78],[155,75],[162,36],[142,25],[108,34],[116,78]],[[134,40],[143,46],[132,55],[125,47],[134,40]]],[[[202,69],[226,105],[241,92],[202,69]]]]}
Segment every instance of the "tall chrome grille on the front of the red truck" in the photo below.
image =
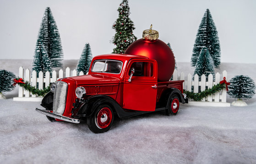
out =
{"type": "Polygon", "coordinates": [[[53,113],[62,115],[65,110],[67,83],[58,81],[54,91],[53,113]]]}

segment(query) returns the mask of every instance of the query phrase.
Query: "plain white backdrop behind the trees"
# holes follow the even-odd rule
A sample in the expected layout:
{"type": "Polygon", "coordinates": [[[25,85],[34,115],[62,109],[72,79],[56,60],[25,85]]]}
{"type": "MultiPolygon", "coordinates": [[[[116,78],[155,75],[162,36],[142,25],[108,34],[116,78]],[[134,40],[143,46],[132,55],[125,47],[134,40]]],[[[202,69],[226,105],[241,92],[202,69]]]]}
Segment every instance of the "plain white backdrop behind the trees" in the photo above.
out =
{"type": "MultiPolygon", "coordinates": [[[[65,59],[79,59],[86,42],[93,56],[112,52],[110,40],[121,0],[0,0],[0,59],[33,59],[40,23],[50,7],[65,59]]],[[[153,24],[170,42],[177,62],[190,62],[208,8],[218,30],[221,62],[256,63],[255,0],[129,0],[134,34],[153,24]]]]}

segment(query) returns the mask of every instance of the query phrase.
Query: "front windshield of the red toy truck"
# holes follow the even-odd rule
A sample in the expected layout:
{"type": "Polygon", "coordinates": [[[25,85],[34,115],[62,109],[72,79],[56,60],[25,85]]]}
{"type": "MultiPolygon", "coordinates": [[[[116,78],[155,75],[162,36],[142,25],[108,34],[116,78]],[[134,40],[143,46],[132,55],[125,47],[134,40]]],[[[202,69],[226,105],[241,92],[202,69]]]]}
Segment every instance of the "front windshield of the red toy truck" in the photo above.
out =
{"type": "Polygon", "coordinates": [[[93,62],[92,72],[119,74],[123,63],[115,60],[96,60],[93,62]]]}

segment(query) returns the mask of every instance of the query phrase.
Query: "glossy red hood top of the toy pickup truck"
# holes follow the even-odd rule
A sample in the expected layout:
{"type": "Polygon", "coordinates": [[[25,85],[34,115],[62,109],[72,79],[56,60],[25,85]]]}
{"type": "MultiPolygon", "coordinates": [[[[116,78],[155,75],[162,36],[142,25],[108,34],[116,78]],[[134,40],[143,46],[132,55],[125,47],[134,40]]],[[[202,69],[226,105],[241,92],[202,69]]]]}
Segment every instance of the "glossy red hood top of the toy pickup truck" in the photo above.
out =
{"type": "Polygon", "coordinates": [[[105,84],[105,83],[119,83],[120,80],[116,77],[110,77],[106,75],[83,75],[77,77],[69,77],[76,81],[76,85],[87,85],[87,84],[105,84]]]}

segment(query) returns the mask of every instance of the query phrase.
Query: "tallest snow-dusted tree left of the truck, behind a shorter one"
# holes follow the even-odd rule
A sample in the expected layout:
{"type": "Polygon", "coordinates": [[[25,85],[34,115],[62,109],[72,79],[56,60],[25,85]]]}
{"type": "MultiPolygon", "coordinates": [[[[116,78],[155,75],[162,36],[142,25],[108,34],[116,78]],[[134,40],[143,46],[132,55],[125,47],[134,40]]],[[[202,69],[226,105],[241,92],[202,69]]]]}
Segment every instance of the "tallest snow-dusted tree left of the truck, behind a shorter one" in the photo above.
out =
{"type": "Polygon", "coordinates": [[[49,56],[51,68],[62,67],[63,52],[60,34],[49,7],[45,9],[38,39],[42,41],[45,51],[49,56]]]}

